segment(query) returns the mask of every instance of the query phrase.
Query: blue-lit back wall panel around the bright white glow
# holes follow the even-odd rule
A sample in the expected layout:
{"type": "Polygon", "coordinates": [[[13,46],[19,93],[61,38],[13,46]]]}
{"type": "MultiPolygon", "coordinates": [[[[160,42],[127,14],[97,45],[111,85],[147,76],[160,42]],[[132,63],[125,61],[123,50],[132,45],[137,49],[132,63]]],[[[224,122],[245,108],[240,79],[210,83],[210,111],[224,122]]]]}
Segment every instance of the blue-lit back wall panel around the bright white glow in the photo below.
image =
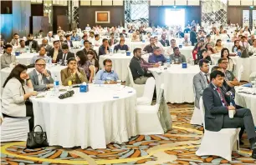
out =
{"type": "MultiPolygon", "coordinates": [[[[165,26],[166,8],[173,7],[150,7],[150,26],[165,26]]],[[[201,23],[201,6],[183,6],[176,8],[185,9],[185,24],[191,23],[195,20],[197,23],[201,23]]]]}

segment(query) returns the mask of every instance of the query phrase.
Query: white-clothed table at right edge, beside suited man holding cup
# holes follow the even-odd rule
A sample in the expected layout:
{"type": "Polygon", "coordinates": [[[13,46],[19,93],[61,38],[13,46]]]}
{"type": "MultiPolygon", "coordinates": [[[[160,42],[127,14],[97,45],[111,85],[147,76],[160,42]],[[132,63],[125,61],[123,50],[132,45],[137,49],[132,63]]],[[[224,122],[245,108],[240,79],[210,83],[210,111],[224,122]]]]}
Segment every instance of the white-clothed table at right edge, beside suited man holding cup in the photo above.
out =
{"type": "MultiPolygon", "coordinates": [[[[236,87],[235,102],[241,107],[249,108],[252,112],[254,125],[256,124],[256,95],[244,93],[253,92],[252,87],[236,87]],[[240,92],[243,91],[243,92],[240,92]]],[[[256,89],[254,89],[256,90],[256,89]]]]}

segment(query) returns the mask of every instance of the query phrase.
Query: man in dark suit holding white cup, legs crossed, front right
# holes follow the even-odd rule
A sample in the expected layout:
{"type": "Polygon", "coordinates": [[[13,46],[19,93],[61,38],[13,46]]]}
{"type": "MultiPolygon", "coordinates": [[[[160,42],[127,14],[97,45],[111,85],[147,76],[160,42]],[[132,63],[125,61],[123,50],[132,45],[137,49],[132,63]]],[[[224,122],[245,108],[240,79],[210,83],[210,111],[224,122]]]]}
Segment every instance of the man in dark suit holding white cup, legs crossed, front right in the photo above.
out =
{"type": "Polygon", "coordinates": [[[213,71],[210,74],[212,82],[202,92],[205,107],[205,128],[218,132],[222,128],[245,128],[248,140],[253,150],[252,158],[256,158],[256,133],[252,113],[248,108],[234,107],[230,105],[229,97],[223,93],[224,73],[213,71]],[[233,118],[229,118],[228,111],[235,110],[233,118]]]}

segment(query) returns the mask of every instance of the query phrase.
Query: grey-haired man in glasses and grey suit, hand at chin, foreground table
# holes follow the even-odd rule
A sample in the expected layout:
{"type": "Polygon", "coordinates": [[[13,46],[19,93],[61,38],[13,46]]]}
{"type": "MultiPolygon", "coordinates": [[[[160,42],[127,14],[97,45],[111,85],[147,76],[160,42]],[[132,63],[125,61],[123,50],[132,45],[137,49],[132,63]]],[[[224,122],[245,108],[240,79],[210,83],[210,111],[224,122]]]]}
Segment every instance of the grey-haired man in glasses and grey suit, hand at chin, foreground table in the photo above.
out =
{"type": "Polygon", "coordinates": [[[51,72],[46,70],[45,61],[43,58],[38,58],[35,61],[35,68],[28,75],[33,84],[35,91],[46,91],[50,87],[54,87],[54,79],[51,77],[51,72]]]}

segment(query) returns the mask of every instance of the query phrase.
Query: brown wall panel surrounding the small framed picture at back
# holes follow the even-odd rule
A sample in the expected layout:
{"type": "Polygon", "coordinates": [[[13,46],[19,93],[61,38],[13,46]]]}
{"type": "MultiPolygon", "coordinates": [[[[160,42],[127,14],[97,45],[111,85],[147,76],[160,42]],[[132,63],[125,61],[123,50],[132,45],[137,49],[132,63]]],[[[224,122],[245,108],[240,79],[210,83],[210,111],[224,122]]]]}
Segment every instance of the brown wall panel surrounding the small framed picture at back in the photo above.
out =
{"type": "Polygon", "coordinates": [[[87,24],[102,27],[113,27],[125,24],[125,8],[121,7],[79,7],[79,28],[84,29],[87,24]],[[95,11],[110,11],[110,23],[95,23],[95,11]]]}

